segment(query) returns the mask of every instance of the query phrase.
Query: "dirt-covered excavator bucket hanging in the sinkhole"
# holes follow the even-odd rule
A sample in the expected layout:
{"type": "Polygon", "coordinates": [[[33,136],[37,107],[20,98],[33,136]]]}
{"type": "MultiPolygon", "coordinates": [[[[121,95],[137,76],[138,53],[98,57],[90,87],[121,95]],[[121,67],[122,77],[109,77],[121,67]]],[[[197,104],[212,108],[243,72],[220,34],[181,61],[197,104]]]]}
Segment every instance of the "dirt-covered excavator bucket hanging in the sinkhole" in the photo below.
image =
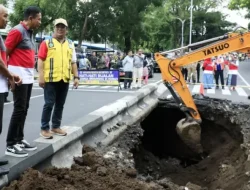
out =
{"type": "Polygon", "coordinates": [[[195,120],[181,119],[176,126],[181,140],[195,153],[202,154],[201,127],[195,120]]]}

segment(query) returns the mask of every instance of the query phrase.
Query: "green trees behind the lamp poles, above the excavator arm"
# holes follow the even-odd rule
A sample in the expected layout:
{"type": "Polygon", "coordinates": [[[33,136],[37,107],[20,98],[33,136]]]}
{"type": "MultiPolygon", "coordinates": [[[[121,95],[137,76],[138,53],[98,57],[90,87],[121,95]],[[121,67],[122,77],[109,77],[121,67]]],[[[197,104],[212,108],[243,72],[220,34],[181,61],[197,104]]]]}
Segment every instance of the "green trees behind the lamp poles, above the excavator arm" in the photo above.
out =
{"type": "MultiPolygon", "coordinates": [[[[234,26],[225,21],[222,13],[208,11],[214,8],[219,1],[194,1],[192,41],[220,36],[234,26]]],[[[185,20],[184,43],[189,43],[189,0],[165,0],[160,7],[151,7],[144,14],[144,26],[149,42],[145,47],[153,51],[173,49],[181,45],[182,23],[177,19],[185,20]]]]}

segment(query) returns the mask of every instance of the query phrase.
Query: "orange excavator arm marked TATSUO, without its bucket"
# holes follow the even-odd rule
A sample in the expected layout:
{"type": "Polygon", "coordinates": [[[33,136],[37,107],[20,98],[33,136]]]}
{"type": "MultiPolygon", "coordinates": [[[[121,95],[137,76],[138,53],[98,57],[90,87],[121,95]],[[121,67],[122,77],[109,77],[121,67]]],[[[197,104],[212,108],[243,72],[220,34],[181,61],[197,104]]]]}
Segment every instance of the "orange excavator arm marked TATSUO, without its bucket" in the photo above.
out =
{"type": "Polygon", "coordinates": [[[237,35],[233,33],[225,40],[199,48],[174,60],[165,58],[161,53],[156,53],[155,60],[161,69],[164,83],[170,89],[180,108],[195,121],[201,122],[197,107],[182,76],[181,68],[228,52],[249,52],[249,50],[250,32],[237,35]]]}

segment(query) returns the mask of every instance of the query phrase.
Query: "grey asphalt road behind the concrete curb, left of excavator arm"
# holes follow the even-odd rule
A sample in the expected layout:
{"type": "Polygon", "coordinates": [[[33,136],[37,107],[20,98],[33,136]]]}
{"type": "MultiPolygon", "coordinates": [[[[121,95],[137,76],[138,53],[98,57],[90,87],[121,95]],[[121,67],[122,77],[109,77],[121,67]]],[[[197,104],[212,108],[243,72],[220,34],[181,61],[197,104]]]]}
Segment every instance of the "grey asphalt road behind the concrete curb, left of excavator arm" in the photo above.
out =
{"type": "MultiPolygon", "coordinates": [[[[149,79],[149,83],[155,83],[159,80],[161,80],[161,75],[156,74],[154,78],[149,79]]],[[[72,90],[72,88],[70,88],[63,112],[62,126],[67,126],[74,120],[126,95],[130,95],[134,93],[134,91],[135,90],[120,90],[118,92],[117,87],[112,86],[83,86],[79,87],[77,90],[72,90]]],[[[8,99],[11,101],[13,100],[12,93],[10,93],[8,99]]],[[[38,87],[37,82],[35,82],[24,132],[25,139],[29,142],[39,137],[43,104],[43,90],[38,87]]],[[[5,103],[3,132],[0,136],[0,156],[2,156],[5,151],[6,136],[12,111],[13,102],[5,103]]]]}

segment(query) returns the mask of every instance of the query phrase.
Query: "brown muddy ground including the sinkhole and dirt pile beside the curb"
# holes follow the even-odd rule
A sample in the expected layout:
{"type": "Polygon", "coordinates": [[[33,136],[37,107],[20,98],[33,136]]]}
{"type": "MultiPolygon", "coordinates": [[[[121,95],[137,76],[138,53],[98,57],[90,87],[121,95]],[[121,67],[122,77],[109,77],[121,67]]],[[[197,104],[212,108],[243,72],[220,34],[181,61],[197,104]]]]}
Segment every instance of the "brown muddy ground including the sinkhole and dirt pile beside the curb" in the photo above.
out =
{"type": "Polygon", "coordinates": [[[216,99],[196,104],[203,118],[202,155],[180,140],[175,125],[183,113],[164,100],[112,145],[84,146],[70,169],[29,169],[4,190],[250,189],[249,106],[216,99]]]}

